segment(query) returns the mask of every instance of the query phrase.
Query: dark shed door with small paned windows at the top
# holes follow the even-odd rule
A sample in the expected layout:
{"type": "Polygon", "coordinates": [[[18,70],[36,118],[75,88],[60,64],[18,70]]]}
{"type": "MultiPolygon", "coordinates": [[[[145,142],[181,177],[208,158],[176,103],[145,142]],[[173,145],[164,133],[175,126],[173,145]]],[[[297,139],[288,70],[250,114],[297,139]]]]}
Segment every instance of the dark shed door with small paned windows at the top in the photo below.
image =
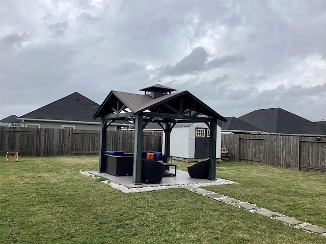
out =
{"type": "Polygon", "coordinates": [[[196,128],[195,159],[209,157],[209,129],[196,128]]]}

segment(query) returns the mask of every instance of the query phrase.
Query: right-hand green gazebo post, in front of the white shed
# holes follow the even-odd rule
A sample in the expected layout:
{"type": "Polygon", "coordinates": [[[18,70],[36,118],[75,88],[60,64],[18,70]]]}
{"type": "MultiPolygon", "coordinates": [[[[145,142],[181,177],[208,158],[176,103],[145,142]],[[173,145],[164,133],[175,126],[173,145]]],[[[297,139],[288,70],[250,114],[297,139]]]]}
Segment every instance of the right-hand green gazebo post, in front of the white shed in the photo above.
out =
{"type": "Polygon", "coordinates": [[[216,180],[216,131],[217,120],[210,120],[210,133],[209,133],[209,168],[208,179],[216,180]]]}

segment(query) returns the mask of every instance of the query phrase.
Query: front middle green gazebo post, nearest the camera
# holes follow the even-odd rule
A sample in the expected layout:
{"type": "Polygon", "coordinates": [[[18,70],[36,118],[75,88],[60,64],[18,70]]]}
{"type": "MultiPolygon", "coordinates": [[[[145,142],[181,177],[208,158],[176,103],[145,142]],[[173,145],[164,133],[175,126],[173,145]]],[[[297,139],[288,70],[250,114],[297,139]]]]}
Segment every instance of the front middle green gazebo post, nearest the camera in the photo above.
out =
{"type": "Polygon", "coordinates": [[[137,114],[134,120],[134,147],[132,183],[142,184],[142,147],[143,147],[143,114],[137,114]]]}

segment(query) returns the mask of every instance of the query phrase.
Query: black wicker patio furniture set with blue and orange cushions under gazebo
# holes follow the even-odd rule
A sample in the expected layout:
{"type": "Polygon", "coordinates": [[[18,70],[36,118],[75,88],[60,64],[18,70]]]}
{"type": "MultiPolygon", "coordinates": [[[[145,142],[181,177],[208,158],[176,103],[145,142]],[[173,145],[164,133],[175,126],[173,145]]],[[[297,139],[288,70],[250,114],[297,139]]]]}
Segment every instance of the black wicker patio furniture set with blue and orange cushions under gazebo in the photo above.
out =
{"type": "MultiPolygon", "coordinates": [[[[105,151],[105,172],[115,176],[131,176],[133,170],[133,154],[123,151],[105,151]]],[[[142,182],[145,184],[159,184],[163,177],[176,176],[177,165],[163,162],[159,151],[142,152],[142,182]],[[174,172],[170,172],[174,167],[174,172]]],[[[191,178],[208,178],[208,159],[194,165],[188,165],[191,178]]]]}

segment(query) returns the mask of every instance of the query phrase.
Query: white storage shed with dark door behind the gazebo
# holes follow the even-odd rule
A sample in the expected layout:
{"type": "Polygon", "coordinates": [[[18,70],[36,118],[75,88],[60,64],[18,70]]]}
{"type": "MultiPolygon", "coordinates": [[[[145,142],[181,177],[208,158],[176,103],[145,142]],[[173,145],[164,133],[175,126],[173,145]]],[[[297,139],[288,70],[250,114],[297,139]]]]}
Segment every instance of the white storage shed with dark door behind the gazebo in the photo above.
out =
{"type": "MultiPolygon", "coordinates": [[[[221,159],[221,127],[216,131],[216,159],[221,159]]],[[[165,145],[163,135],[162,151],[165,145]]],[[[209,157],[209,129],[205,123],[176,124],[171,131],[170,156],[185,161],[209,157]]]]}

